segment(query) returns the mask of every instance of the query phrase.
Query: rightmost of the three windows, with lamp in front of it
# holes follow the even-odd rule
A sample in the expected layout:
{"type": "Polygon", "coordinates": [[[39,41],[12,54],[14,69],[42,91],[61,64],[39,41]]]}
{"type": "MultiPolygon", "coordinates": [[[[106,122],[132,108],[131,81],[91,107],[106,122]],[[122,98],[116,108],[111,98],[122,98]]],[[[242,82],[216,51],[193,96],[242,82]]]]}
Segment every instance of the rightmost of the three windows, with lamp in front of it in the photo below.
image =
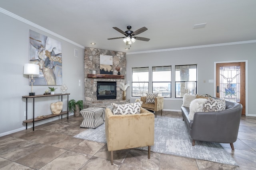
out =
{"type": "Polygon", "coordinates": [[[185,89],[185,82],[195,82],[197,86],[197,66],[182,65],[175,66],[175,97],[183,98],[185,93],[196,94],[195,89],[185,89]]]}

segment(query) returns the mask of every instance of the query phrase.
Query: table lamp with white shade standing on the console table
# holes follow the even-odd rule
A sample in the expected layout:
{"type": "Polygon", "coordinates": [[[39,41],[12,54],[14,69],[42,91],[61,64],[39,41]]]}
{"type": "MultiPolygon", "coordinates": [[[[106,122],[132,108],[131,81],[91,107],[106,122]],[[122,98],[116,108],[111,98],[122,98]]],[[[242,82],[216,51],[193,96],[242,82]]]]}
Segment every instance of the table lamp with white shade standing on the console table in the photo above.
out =
{"type": "Polygon", "coordinates": [[[29,76],[31,75],[31,78],[29,80],[29,82],[31,83],[31,93],[29,93],[29,96],[35,96],[35,93],[33,92],[33,83],[35,82],[33,75],[39,75],[39,65],[24,64],[23,74],[29,75],[29,76]]]}

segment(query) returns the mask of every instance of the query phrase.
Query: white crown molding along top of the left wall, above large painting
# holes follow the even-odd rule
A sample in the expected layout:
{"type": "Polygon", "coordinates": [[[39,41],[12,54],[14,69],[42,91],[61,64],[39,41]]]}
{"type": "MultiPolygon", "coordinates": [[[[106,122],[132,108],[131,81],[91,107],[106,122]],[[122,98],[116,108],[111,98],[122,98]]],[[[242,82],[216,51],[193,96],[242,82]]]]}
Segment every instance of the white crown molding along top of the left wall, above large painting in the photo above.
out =
{"type": "Polygon", "coordinates": [[[46,29],[46,28],[44,28],[44,27],[41,27],[40,25],[37,25],[37,24],[35,24],[35,23],[31,22],[31,21],[28,21],[28,20],[26,20],[26,19],[24,19],[24,18],[22,18],[22,17],[20,17],[20,16],[17,16],[16,14],[13,14],[13,13],[11,13],[11,12],[9,12],[9,11],[3,9],[3,8],[0,8],[0,12],[1,12],[2,14],[5,14],[5,15],[7,15],[7,16],[10,16],[10,17],[12,17],[12,18],[14,18],[14,19],[16,19],[16,20],[22,21],[22,22],[24,22],[24,23],[26,23],[26,24],[28,24],[28,25],[30,25],[30,26],[32,26],[32,27],[35,27],[35,28],[37,28],[37,29],[40,29],[40,30],[42,30],[42,31],[44,31],[44,32],[46,32],[46,33],[49,33],[49,34],[51,34],[51,35],[54,35],[55,37],[58,37],[58,38],[60,38],[60,39],[62,39],[62,40],[64,40],[64,41],[67,41],[68,43],[71,43],[71,44],[73,44],[73,45],[76,45],[77,47],[80,47],[80,48],[84,49],[84,46],[82,46],[82,45],[80,45],[80,44],[78,44],[78,43],[75,43],[74,41],[71,41],[70,39],[67,39],[67,38],[65,38],[65,37],[62,37],[61,35],[58,35],[57,33],[54,33],[54,32],[52,32],[52,31],[50,31],[50,30],[48,30],[48,29],[46,29]]]}

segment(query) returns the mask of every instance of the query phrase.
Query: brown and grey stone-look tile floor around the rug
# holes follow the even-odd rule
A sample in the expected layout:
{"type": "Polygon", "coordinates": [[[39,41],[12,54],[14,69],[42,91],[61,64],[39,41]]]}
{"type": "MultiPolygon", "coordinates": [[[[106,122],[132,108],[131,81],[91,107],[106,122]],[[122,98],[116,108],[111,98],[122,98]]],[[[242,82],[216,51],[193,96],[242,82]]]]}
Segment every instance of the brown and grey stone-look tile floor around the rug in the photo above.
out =
{"type": "MultiPolygon", "coordinates": [[[[160,113],[157,113],[160,116],[160,113]]],[[[163,111],[162,116],[182,119],[180,112],[163,111]]],[[[0,137],[0,170],[252,170],[256,169],[256,117],[242,116],[238,140],[232,151],[239,164],[230,166],[168,154],[128,149],[114,151],[114,165],[105,143],[73,138],[82,116],[70,116],[28,130],[0,137]]],[[[184,127],[185,128],[185,127],[184,127]]]]}

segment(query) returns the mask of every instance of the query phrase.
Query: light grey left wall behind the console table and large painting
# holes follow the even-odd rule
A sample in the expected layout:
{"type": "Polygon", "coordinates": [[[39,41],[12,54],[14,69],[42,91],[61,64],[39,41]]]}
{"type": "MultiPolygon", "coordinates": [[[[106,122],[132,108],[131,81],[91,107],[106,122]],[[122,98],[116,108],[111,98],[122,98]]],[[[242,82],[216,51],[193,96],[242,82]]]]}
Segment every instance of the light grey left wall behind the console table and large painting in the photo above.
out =
{"type": "MultiPolygon", "coordinates": [[[[68,87],[69,99],[84,100],[84,49],[81,46],[78,47],[2,13],[0,21],[0,136],[26,128],[26,124],[22,123],[26,119],[26,99],[22,99],[22,96],[28,95],[31,90],[28,76],[23,75],[23,66],[28,63],[29,29],[62,43],[62,84],[68,87]],[[74,57],[74,49],[78,49],[78,58],[74,57]],[[78,80],[81,80],[81,86],[78,86],[78,80]]],[[[56,93],[61,93],[60,86],[55,88],[58,88],[56,93]]],[[[36,94],[43,94],[46,89],[48,86],[33,86],[33,92],[36,94]]],[[[63,98],[66,108],[67,98],[63,98]]],[[[50,114],[50,104],[60,100],[60,97],[36,98],[35,115],[50,114]]],[[[28,102],[28,118],[32,118],[32,99],[28,99],[28,102]]],[[[39,121],[36,125],[42,123],[44,122],[39,121]]]]}

